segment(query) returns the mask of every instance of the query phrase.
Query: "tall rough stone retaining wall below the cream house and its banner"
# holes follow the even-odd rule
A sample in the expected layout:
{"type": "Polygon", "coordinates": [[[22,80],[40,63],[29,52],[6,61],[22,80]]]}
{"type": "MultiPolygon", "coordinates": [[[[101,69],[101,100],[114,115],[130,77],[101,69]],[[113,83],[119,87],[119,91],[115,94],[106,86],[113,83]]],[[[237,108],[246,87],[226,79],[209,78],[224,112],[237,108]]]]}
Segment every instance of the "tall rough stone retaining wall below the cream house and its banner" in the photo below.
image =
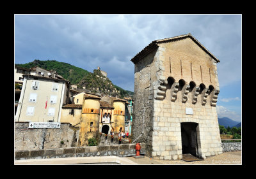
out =
{"type": "Polygon", "coordinates": [[[29,129],[29,122],[15,122],[15,151],[76,147],[79,127],[61,123],[59,129],[29,129]]]}

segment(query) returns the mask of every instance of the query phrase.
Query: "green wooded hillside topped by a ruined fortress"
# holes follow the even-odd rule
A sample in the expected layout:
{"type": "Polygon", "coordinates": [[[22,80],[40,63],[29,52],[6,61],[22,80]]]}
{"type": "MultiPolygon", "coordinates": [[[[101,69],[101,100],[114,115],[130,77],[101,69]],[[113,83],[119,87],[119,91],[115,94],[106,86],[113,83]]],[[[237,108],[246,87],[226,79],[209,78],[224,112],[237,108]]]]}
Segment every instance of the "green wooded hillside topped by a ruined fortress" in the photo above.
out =
{"type": "Polygon", "coordinates": [[[133,96],[133,92],[124,90],[117,85],[114,85],[108,77],[102,75],[99,69],[94,69],[93,73],[86,69],[78,68],[71,64],[58,61],[40,61],[35,60],[26,64],[15,64],[24,68],[33,68],[38,66],[47,70],[56,70],[58,75],[63,76],[66,80],[70,81],[72,85],[77,85],[77,89],[83,89],[94,93],[111,94],[115,97],[129,97],[133,96]]]}

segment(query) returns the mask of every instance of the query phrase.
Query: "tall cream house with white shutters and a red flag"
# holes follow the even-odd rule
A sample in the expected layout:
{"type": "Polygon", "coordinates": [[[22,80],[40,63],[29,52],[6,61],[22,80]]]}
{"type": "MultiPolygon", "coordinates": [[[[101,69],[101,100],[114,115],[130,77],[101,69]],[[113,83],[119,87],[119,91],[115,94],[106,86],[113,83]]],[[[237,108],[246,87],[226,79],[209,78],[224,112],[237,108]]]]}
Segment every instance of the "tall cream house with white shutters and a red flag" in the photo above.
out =
{"type": "Polygon", "coordinates": [[[22,76],[24,81],[15,122],[60,122],[61,107],[68,101],[70,82],[55,74],[22,76]]]}

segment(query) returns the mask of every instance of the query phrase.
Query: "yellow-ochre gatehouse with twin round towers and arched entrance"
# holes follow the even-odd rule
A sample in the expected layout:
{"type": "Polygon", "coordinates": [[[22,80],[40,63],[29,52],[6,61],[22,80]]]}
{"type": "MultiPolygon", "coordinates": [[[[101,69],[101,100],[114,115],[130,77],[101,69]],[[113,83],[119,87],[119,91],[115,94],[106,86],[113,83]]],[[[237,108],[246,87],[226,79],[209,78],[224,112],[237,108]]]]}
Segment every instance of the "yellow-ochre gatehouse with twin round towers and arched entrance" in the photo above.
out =
{"type": "Polygon", "coordinates": [[[62,106],[61,122],[79,127],[78,146],[88,145],[90,138],[99,137],[99,132],[116,134],[124,131],[125,103],[116,97],[100,97],[88,92],[73,96],[72,103],[62,106]]]}

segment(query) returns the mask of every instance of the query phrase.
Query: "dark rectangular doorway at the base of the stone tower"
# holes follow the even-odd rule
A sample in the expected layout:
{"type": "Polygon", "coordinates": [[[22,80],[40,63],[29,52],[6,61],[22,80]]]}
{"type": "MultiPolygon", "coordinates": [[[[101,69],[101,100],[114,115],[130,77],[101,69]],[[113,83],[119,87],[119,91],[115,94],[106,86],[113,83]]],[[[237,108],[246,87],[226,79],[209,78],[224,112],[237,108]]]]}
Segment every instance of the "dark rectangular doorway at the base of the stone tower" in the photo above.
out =
{"type": "Polygon", "coordinates": [[[198,127],[198,123],[195,122],[180,123],[182,154],[191,154],[198,157],[196,127],[198,127]]]}

